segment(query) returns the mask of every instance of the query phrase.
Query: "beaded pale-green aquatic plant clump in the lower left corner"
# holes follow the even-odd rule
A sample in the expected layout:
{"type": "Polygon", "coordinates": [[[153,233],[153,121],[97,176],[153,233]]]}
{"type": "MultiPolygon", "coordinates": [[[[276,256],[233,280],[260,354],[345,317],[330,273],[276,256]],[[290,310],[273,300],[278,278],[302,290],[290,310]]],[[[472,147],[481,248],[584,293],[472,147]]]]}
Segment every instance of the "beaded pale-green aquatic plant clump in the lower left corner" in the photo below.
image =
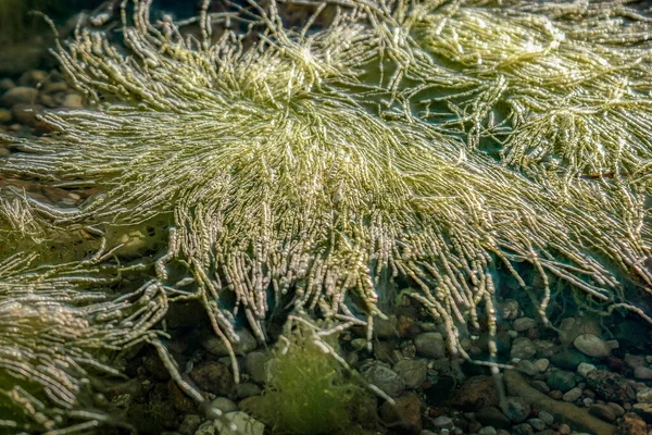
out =
{"type": "Polygon", "coordinates": [[[165,291],[148,283],[112,294],[127,270],[101,257],[32,269],[35,257],[0,264],[0,427],[55,434],[114,424],[92,411],[91,380],[123,376],[106,357],[158,337],[152,326],[166,311],[165,291]]]}

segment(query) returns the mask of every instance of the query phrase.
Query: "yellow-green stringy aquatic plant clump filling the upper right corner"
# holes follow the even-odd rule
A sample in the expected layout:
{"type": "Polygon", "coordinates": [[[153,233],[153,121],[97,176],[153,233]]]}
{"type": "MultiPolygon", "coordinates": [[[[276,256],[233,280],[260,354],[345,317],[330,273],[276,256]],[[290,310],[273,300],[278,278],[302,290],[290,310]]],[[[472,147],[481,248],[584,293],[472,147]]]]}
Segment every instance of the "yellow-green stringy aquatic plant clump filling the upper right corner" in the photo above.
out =
{"type": "Polygon", "coordinates": [[[377,47],[394,63],[380,87],[415,116],[530,175],[626,176],[649,194],[652,23],[643,3],[379,4],[368,7],[377,47]]]}

